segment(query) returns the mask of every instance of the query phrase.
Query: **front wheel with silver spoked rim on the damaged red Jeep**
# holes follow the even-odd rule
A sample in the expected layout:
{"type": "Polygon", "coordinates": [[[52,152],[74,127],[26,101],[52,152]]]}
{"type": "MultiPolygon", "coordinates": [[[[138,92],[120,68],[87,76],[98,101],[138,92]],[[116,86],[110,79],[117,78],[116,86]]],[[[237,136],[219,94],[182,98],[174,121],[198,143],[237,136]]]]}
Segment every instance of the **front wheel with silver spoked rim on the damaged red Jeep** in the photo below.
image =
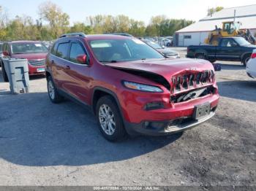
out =
{"type": "Polygon", "coordinates": [[[108,141],[118,141],[124,138],[125,130],[116,101],[106,95],[99,98],[96,106],[99,130],[108,141]]]}

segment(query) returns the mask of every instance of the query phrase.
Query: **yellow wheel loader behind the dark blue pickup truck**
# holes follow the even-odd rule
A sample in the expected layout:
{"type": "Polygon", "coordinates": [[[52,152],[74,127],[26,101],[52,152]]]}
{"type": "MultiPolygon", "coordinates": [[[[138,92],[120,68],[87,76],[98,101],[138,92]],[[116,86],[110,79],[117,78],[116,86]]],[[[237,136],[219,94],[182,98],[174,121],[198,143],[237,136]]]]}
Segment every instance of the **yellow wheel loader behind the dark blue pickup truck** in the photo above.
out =
{"type": "Polygon", "coordinates": [[[241,23],[235,21],[228,21],[222,23],[222,28],[215,26],[215,30],[208,34],[208,38],[205,39],[205,44],[218,45],[219,38],[230,36],[242,36],[246,41],[251,44],[256,44],[255,37],[248,29],[240,29],[241,23]]]}

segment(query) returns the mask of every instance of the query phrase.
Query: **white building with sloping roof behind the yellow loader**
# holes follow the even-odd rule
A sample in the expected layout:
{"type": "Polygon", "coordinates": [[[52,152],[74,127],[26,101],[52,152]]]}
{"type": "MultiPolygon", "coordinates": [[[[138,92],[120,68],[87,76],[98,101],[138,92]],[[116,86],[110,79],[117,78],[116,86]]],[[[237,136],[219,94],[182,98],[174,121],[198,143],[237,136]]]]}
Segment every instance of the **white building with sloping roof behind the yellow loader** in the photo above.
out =
{"type": "Polygon", "coordinates": [[[233,21],[236,12],[236,21],[241,23],[241,29],[249,29],[252,34],[256,34],[256,4],[243,7],[232,7],[222,9],[213,15],[204,17],[197,23],[176,31],[174,44],[178,47],[203,44],[210,31],[215,26],[222,28],[222,22],[233,21]]]}

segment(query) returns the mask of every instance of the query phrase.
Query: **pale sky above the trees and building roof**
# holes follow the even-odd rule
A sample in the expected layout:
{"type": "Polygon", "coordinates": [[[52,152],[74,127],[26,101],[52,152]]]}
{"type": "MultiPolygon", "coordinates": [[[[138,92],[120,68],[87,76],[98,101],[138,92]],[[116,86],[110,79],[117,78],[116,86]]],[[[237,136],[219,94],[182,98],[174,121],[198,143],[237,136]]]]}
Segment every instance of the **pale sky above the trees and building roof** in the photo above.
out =
{"type": "MultiPolygon", "coordinates": [[[[29,15],[38,18],[38,6],[45,0],[0,0],[11,18],[29,15]]],[[[256,4],[255,0],[51,0],[70,17],[70,23],[84,22],[90,15],[124,14],[148,23],[151,16],[167,15],[170,18],[200,20],[208,7],[238,7],[256,4]]],[[[256,12],[256,10],[255,10],[256,12]]]]}

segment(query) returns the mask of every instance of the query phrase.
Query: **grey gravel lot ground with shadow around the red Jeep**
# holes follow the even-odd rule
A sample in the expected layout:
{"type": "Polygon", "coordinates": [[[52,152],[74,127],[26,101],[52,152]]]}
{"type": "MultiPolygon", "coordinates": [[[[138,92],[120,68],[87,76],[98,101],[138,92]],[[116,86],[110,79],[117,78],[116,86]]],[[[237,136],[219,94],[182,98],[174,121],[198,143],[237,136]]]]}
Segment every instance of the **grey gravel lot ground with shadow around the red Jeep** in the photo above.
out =
{"type": "Polygon", "coordinates": [[[217,82],[221,99],[208,122],[118,143],[101,136],[89,110],[51,104],[43,77],[31,77],[23,95],[0,82],[0,184],[255,185],[256,80],[241,63],[222,62],[217,82]]]}

